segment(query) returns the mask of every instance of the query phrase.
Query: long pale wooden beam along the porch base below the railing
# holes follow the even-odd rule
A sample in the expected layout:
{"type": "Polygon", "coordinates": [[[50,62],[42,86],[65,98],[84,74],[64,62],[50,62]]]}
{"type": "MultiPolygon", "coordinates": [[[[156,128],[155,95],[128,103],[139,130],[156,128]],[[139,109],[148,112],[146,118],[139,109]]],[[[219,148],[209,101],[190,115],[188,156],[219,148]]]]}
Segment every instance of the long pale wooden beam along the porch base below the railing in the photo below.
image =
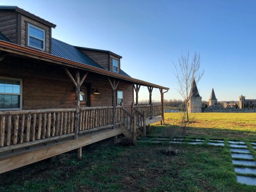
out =
{"type": "Polygon", "coordinates": [[[17,154],[15,154],[14,150],[13,153],[7,154],[5,157],[0,157],[0,174],[122,133],[128,135],[127,130],[118,127],[115,130],[106,130],[100,133],[86,135],[75,140],[62,140],[58,143],[54,141],[47,143],[47,146],[41,145],[30,147],[29,150],[23,149],[23,153],[21,153],[22,151],[17,151],[17,154]]]}

